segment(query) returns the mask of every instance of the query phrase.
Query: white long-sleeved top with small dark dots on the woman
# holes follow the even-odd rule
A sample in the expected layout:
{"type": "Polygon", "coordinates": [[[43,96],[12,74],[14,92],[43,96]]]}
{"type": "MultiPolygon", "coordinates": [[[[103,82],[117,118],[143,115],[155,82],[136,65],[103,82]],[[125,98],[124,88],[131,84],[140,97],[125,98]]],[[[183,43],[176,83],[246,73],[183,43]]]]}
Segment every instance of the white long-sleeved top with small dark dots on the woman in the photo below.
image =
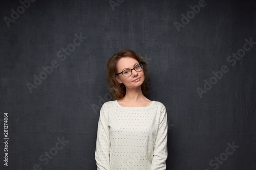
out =
{"type": "Polygon", "coordinates": [[[100,110],[96,139],[97,169],[166,169],[167,113],[153,101],[146,107],[123,107],[117,100],[100,110]]]}

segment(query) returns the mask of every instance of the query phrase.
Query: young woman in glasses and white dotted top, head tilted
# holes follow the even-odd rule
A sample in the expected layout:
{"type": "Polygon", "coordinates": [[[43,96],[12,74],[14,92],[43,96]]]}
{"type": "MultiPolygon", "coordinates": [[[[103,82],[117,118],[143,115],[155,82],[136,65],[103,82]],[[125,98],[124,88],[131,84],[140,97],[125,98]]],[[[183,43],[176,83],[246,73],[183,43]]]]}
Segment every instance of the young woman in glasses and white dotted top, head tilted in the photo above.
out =
{"type": "Polygon", "coordinates": [[[109,59],[107,67],[114,101],[100,110],[97,169],[166,169],[167,113],[162,103],[144,96],[150,81],[145,61],[124,49],[109,59]]]}

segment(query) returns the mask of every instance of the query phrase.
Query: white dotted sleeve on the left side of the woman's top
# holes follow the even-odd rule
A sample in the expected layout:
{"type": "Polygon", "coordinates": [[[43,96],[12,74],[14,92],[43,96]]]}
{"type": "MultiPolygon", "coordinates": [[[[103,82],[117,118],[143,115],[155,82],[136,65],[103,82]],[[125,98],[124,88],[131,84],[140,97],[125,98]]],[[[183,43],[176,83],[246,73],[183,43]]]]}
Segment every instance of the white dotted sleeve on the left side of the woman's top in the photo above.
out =
{"type": "Polygon", "coordinates": [[[110,170],[110,133],[108,126],[108,105],[104,103],[100,109],[96,139],[95,160],[97,170],[110,170]]]}

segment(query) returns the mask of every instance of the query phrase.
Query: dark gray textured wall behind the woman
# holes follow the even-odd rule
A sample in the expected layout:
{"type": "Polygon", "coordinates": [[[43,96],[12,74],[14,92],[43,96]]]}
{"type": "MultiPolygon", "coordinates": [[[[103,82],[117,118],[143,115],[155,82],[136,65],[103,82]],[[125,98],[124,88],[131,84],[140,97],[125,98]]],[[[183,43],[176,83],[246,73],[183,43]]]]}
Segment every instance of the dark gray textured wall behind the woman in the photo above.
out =
{"type": "Polygon", "coordinates": [[[146,97],[166,106],[167,169],[256,169],[256,45],[234,66],[227,62],[245,39],[256,41],[255,1],[206,0],[179,32],[174,22],[199,1],[119,2],[113,10],[109,1],[35,1],[7,27],[4,17],[21,4],[2,1],[1,169],[96,169],[99,109],[110,100],[105,64],[123,48],[144,55],[151,78],[146,97]],[[75,34],[87,38],[61,61],[57,52],[75,34]],[[53,60],[59,66],[30,93],[26,84],[53,60]],[[197,88],[223,65],[229,71],[200,98],[197,88]],[[69,142],[44,165],[39,157],[58,137],[69,142]],[[239,148],[225,158],[228,142],[239,148]],[[210,166],[220,155],[226,160],[210,166]]]}

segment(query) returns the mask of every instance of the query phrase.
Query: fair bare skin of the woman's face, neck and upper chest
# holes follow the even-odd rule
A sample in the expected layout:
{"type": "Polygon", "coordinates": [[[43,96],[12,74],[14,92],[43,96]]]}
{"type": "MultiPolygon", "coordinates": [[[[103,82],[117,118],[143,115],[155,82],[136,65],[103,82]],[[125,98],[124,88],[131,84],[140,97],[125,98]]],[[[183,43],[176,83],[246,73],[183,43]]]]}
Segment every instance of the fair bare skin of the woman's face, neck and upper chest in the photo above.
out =
{"type": "MultiPolygon", "coordinates": [[[[138,63],[134,58],[123,57],[116,63],[117,72],[119,73],[129,68],[132,69],[138,63]]],[[[152,103],[141,91],[141,85],[144,82],[143,70],[137,72],[133,69],[130,77],[124,77],[122,74],[119,74],[115,78],[118,83],[123,83],[126,88],[125,96],[117,101],[119,105],[123,107],[145,107],[152,103]]]]}

